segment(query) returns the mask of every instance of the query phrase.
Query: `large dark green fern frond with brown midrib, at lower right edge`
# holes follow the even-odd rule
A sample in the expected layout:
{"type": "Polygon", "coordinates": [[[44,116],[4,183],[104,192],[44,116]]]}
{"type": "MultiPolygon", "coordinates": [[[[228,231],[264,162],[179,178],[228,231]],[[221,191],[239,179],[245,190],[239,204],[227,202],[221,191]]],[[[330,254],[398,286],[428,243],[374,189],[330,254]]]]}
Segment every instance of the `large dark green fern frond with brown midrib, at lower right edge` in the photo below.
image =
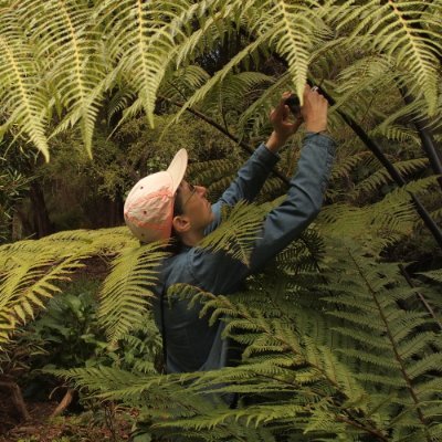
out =
{"type": "Polygon", "coordinates": [[[400,419],[394,420],[393,440],[411,432],[417,440],[430,441],[438,436],[436,428],[432,427],[439,419],[432,407],[438,394],[429,391],[427,383],[428,375],[442,367],[442,355],[431,346],[440,336],[422,333],[421,326],[432,322],[427,313],[403,309],[414,293],[400,285],[397,266],[362,257],[360,250],[351,245],[344,244],[344,251],[343,256],[350,261],[333,262],[334,276],[330,274],[328,288],[335,295],[324,299],[340,305],[330,314],[343,318],[345,328],[358,325],[358,341],[362,345],[350,354],[348,349],[343,351],[362,362],[365,369],[357,375],[360,380],[380,385],[386,391],[394,387],[396,394],[390,396],[392,410],[393,404],[403,409],[400,419]]]}

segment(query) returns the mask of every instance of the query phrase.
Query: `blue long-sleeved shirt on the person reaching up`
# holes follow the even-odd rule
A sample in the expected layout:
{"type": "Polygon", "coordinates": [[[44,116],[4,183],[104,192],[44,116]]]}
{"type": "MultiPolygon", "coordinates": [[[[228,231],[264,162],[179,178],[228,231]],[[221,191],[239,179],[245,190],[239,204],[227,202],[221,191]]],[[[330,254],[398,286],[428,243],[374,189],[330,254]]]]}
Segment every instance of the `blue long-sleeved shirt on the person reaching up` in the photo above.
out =
{"type": "MultiPolygon", "coordinates": [[[[223,252],[213,253],[200,248],[183,246],[180,253],[161,264],[159,284],[155,288],[154,313],[167,340],[167,371],[189,372],[211,370],[228,364],[228,343],[221,338],[224,324],[209,326],[208,318],[199,317],[201,305],[189,308],[188,301],[164,296],[161,324],[161,293],[177,283],[194,285],[203,291],[227,295],[240,288],[244,278],[262,269],[272,257],[295,240],[315,219],[323,203],[323,194],[330,173],[335,152],[332,138],[307,134],[297,171],[290,181],[286,199],[265,218],[255,241],[250,266],[223,252]]],[[[239,170],[236,179],[212,204],[214,221],[210,233],[221,222],[223,204],[234,206],[240,200],[253,201],[269,177],[278,156],[261,145],[239,170]]]]}

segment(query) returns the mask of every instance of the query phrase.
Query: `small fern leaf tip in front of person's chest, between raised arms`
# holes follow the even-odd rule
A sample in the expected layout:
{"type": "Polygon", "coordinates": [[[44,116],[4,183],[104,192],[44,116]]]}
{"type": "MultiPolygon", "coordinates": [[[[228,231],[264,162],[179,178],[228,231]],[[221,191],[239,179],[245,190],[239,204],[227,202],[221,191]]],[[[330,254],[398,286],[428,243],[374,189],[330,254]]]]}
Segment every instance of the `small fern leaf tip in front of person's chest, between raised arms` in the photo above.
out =
{"type": "Polygon", "coordinates": [[[249,264],[250,254],[259,232],[262,229],[264,212],[256,206],[239,202],[234,208],[224,207],[223,221],[212,233],[207,235],[199,248],[224,251],[233,259],[249,264]]]}

